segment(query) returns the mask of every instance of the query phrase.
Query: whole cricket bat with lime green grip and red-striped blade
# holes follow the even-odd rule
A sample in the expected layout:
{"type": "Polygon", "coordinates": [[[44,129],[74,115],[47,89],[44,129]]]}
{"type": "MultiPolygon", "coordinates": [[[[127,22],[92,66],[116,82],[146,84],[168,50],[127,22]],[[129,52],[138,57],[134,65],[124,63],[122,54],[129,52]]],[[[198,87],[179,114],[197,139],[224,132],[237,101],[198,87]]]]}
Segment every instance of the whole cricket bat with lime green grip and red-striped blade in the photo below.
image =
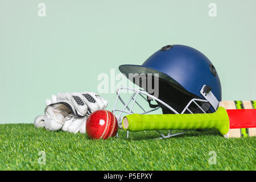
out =
{"type": "Polygon", "coordinates": [[[210,114],[130,114],[122,120],[128,131],[217,129],[225,138],[256,135],[255,101],[221,101],[210,114]]]}

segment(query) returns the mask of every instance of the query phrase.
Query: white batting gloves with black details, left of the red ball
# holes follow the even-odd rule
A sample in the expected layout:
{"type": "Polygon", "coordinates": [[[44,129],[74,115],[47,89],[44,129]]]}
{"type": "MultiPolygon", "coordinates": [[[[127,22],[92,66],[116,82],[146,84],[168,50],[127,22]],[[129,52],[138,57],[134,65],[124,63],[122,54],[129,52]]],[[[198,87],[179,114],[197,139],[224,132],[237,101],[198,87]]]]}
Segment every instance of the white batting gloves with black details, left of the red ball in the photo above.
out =
{"type": "Polygon", "coordinates": [[[93,92],[58,93],[46,100],[46,105],[45,115],[35,118],[35,127],[85,133],[87,117],[96,110],[105,109],[108,101],[93,92]]]}

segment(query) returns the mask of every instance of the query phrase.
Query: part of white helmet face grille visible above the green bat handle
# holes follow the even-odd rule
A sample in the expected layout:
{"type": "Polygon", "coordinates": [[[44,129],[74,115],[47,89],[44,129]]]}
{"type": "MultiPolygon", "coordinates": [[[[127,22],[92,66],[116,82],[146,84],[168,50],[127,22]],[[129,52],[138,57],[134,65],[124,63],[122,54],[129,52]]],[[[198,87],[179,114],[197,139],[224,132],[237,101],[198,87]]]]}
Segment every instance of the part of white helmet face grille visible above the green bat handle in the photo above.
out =
{"type": "MultiPolygon", "coordinates": [[[[161,94],[160,97],[164,100],[160,100],[158,97],[154,97],[151,94],[148,94],[145,90],[134,89],[134,88],[119,88],[117,90],[117,98],[115,99],[113,113],[117,117],[119,127],[122,127],[122,119],[125,115],[129,114],[184,114],[184,113],[210,113],[210,104],[207,100],[202,100],[200,98],[193,98],[191,96],[182,95],[179,98],[184,99],[179,101],[178,98],[175,98],[175,95],[172,95],[172,91],[167,90],[167,96],[161,94]],[[130,92],[131,91],[131,92],[130,92]],[[167,98],[167,99],[165,99],[167,98]],[[171,100],[171,98],[175,98],[171,100]],[[189,100],[189,98],[192,98],[189,100]],[[154,107],[150,106],[150,102],[153,101],[156,103],[154,107]]],[[[176,91],[177,92],[177,91],[176,91]]]]}

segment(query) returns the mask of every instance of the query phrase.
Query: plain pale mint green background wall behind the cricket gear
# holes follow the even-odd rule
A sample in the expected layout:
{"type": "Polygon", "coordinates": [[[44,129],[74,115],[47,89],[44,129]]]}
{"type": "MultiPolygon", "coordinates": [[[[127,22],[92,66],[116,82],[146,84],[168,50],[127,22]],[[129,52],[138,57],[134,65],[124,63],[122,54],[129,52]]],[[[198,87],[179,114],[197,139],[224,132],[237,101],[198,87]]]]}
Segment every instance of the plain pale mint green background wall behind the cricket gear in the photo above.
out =
{"type": "MultiPolygon", "coordinates": [[[[57,92],[97,92],[99,73],[142,64],[167,44],[214,63],[222,100],[256,100],[256,1],[0,2],[0,123],[33,122],[57,92]],[[38,3],[46,3],[46,17],[38,3]],[[217,5],[209,17],[208,5],[217,5]]],[[[112,110],[115,94],[101,94],[112,110]]]]}

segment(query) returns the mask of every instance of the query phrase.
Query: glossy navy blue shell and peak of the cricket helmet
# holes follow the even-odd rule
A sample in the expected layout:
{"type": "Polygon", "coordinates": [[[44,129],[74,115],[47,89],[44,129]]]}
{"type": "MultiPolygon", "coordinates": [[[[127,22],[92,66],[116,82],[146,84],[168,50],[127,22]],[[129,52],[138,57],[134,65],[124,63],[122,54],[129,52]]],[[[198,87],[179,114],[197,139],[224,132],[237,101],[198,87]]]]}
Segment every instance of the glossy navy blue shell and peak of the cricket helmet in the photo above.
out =
{"type": "Polygon", "coordinates": [[[210,60],[195,48],[183,45],[165,46],[148,57],[142,65],[120,65],[119,71],[129,73],[159,73],[159,77],[191,96],[201,96],[204,85],[221,101],[220,78],[210,60]]]}

